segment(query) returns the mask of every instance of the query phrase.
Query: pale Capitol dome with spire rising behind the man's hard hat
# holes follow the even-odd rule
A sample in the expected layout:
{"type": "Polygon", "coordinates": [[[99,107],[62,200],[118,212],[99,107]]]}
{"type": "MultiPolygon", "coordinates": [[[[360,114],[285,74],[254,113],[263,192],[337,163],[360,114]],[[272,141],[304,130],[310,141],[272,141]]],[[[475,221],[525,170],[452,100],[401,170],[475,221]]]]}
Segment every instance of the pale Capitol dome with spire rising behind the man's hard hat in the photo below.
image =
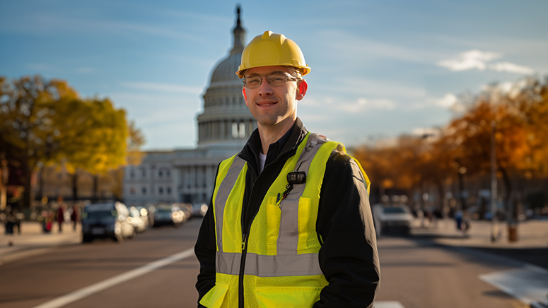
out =
{"type": "Polygon", "coordinates": [[[199,114],[198,147],[240,146],[257,128],[257,122],[245,105],[243,83],[236,71],[245,47],[245,30],[238,18],[233,29],[234,45],[211,74],[211,82],[204,94],[204,112],[199,114]]]}

